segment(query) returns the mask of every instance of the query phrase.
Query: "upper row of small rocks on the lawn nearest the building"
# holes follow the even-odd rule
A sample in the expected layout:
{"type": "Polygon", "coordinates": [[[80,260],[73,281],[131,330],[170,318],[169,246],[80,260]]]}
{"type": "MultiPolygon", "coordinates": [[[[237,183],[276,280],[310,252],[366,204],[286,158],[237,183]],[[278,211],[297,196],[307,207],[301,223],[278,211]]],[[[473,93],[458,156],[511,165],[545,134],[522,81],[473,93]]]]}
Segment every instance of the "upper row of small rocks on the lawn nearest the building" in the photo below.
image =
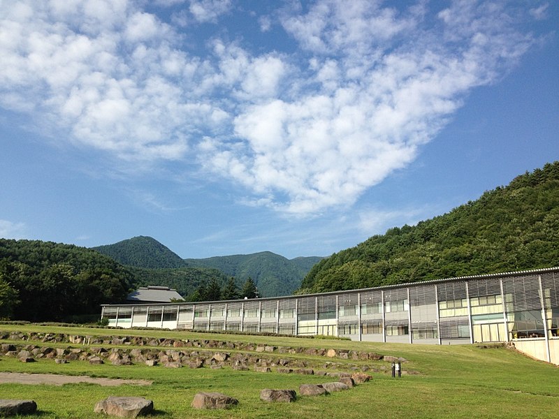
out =
{"type": "Polygon", "coordinates": [[[87,344],[94,346],[164,346],[174,348],[210,348],[225,349],[230,351],[244,352],[266,352],[266,353],[285,353],[292,355],[310,355],[324,356],[327,358],[340,358],[343,360],[384,360],[393,362],[397,359],[390,355],[380,355],[378,353],[370,353],[365,351],[353,351],[342,349],[326,349],[326,348],[303,348],[290,346],[272,346],[265,344],[250,344],[245,342],[219,341],[212,339],[154,339],[139,336],[79,336],[66,335],[63,333],[41,333],[41,332],[0,332],[0,340],[24,340],[24,341],[41,341],[44,343],[71,343],[71,344],[87,344]]]}

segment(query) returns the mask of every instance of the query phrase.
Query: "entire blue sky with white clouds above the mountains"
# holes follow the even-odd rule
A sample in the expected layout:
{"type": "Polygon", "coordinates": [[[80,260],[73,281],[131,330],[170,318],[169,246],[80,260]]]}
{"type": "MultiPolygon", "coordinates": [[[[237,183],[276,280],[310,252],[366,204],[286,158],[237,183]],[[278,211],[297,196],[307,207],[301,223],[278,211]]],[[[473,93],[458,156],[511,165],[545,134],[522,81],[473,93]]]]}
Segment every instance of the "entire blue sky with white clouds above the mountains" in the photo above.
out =
{"type": "Polygon", "coordinates": [[[559,159],[558,1],[0,1],[0,237],[327,256],[559,159]]]}

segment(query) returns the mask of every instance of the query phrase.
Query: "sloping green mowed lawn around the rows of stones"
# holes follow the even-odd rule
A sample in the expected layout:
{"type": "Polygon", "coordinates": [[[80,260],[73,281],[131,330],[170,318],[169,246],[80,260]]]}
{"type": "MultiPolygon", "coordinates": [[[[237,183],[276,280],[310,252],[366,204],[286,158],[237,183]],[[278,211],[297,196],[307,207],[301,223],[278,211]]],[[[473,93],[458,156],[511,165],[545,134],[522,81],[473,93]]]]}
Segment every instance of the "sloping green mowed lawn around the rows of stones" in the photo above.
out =
{"type": "MultiPolygon", "coordinates": [[[[52,360],[22,363],[0,358],[0,371],[57,373],[152,380],[149,386],[96,384],[0,384],[0,399],[34,399],[41,418],[99,418],[95,402],[110,395],[147,397],[154,418],[558,418],[559,368],[506,348],[372,344],[330,339],[214,335],[164,330],[103,330],[36,325],[0,325],[0,330],[63,332],[75,335],[143,335],[173,339],[249,341],[275,346],[307,346],[370,351],[406,358],[402,367],[419,374],[372,381],[344,392],[298,397],[295,403],[270,404],[259,399],[263,388],[298,390],[303,383],[334,381],[324,376],[258,373],[224,369],[167,369],[145,365],[89,365],[52,360]],[[228,411],[196,411],[196,392],[224,392],[239,400],[228,411]]],[[[76,345],[77,346],[77,345],[76,345]]],[[[324,358],[324,362],[330,360],[324,358]]],[[[351,361],[349,361],[351,362],[351,361]]],[[[386,362],[368,362],[372,367],[386,362]]]]}

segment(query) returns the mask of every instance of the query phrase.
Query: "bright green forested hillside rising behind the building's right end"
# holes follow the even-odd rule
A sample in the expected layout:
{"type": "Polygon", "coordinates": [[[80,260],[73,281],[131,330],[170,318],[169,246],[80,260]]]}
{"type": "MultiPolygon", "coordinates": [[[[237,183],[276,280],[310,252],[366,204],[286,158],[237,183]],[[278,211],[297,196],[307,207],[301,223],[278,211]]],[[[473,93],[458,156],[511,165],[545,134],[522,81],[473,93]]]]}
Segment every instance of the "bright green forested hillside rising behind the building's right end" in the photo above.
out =
{"type": "Polygon", "coordinates": [[[559,161],[314,265],[299,293],[559,265],[559,161]]]}

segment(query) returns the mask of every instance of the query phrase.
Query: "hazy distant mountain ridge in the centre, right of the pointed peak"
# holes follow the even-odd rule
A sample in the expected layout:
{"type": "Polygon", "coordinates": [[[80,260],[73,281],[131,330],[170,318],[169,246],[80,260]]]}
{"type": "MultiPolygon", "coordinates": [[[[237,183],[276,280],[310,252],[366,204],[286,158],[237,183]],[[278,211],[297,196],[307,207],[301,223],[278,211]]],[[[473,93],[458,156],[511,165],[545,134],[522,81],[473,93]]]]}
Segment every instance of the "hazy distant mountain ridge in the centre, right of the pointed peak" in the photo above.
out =
{"type": "Polygon", "coordinates": [[[317,256],[289,260],[270,251],[249,255],[185,259],[191,266],[213,267],[241,280],[252,278],[261,297],[277,297],[293,293],[312,265],[319,260],[321,258],[317,256]]]}

